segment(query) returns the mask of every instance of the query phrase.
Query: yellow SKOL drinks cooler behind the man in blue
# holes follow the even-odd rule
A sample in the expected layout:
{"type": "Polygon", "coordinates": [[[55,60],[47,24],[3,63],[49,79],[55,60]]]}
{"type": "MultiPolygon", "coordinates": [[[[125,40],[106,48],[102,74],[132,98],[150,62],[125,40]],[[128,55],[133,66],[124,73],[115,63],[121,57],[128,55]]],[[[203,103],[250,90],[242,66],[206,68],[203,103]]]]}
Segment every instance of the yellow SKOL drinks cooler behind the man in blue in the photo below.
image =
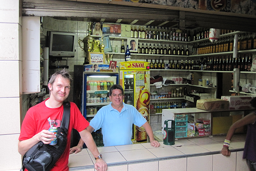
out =
{"type": "MultiPolygon", "coordinates": [[[[119,63],[119,81],[124,88],[124,103],[133,105],[141,115],[150,121],[150,63],[126,61],[119,63]]],[[[133,143],[147,142],[143,127],[133,126],[133,143]]]]}

